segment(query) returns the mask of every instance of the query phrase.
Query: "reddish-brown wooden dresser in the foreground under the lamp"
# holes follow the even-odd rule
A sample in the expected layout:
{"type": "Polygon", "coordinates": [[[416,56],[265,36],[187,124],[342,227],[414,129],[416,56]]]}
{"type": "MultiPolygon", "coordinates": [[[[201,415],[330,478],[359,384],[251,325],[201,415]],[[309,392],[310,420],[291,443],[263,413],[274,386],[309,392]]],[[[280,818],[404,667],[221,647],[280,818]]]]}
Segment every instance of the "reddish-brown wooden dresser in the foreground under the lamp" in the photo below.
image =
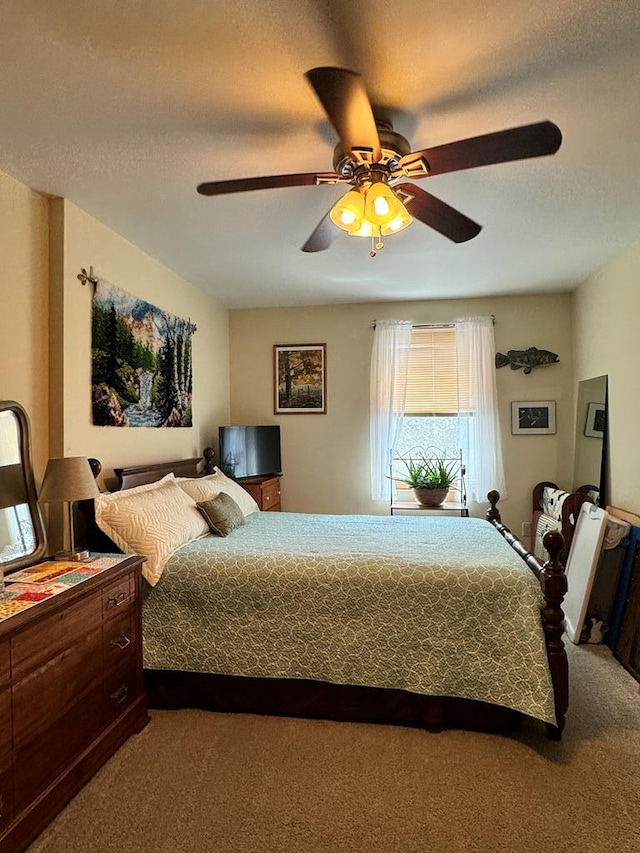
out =
{"type": "Polygon", "coordinates": [[[142,683],[142,562],[122,557],[0,621],[3,853],[24,850],[149,720],[142,683]]]}

